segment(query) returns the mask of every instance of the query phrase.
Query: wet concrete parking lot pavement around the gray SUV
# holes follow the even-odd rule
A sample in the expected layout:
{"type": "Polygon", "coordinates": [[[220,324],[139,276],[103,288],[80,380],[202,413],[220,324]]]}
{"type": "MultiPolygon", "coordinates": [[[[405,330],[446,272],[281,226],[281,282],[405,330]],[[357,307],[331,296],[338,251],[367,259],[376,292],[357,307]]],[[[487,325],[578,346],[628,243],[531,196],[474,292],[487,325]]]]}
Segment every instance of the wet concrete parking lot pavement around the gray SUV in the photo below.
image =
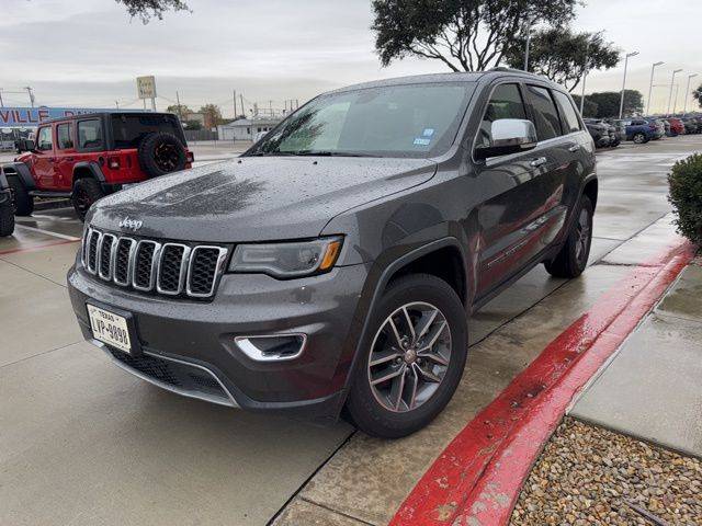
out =
{"type": "MultiPolygon", "coordinates": [[[[592,260],[646,256],[627,240],[669,211],[666,169],[699,147],[599,156],[592,260]]],[[[291,498],[278,524],[386,524],[455,433],[627,272],[600,262],[565,282],[534,268],[471,320],[446,411],[389,442],[182,399],[114,367],[72,318],[64,276],[78,244],[52,236],[81,228],[44,211],[0,240],[0,524],[259,525],[291,498]]],[[[654,229],[670,236],[668,218],[654,229]]]]}

